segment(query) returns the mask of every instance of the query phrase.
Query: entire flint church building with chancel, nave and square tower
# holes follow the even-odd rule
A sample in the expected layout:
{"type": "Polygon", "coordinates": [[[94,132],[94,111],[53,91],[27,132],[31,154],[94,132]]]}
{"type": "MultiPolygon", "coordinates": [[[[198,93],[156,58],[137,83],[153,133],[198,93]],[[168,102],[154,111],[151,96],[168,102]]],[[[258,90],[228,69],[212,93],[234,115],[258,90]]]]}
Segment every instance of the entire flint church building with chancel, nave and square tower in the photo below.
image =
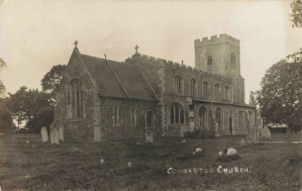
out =
{"type": "Polygon", "coordinates": [[[247,134],[256,108],[245,103],[240,41],[222,34],[194,41],[195,67],[138,53],[123,62],[81,54],[77,41],[56,93],[53,127],[64,139],[119,140],[247,134]]]}

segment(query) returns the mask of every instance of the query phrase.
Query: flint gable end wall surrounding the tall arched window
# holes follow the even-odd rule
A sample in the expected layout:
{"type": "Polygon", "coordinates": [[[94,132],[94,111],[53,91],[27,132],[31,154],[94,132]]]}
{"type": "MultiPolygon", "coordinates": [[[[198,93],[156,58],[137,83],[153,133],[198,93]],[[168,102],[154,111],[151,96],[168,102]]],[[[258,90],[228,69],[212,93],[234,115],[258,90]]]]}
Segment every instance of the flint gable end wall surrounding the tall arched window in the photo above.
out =
{"type": "Polygon", "coordinates": [[[56,94],[55,127],[63,127],[64,139],[93,140],[94,139],[94,105],[99,103],[97,89],[95,88],[88,72],[81,63],[78,55],[73,52],[65,74],[61,80],[56,94]],[[68,119],[67,87],[69,82],[78,78],[84,86],[84,118],[68,119]]]}

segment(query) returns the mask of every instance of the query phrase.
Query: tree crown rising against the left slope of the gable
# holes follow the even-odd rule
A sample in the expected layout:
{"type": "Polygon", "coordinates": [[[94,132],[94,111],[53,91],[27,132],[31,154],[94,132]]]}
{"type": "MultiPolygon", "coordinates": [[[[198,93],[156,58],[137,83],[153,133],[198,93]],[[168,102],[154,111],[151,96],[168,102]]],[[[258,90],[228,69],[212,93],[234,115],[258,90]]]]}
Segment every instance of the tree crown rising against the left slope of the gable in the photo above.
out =
{"type": "Polygon", "coordinates": [[[42,91],[50,93],[54,99],[56,90],[60,84],[60,81],[64,75],[66,65],[56,65],[51,68],[47,74],[44,75],[41,80],[42,91]]]}

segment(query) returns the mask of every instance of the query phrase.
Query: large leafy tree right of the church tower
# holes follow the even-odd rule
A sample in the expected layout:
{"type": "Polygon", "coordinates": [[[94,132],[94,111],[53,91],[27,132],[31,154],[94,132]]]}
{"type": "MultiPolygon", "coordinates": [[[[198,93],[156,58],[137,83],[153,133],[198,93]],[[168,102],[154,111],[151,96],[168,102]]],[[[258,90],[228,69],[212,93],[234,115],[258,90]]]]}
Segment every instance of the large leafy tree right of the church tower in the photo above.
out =
{"type": "Polygon", "coordinates": [[[300,63],[281,60],[265,73],[257,96],[261,117],[265,124],[287,124],[291,130],[301,127],[302,94],[300,63]]]}

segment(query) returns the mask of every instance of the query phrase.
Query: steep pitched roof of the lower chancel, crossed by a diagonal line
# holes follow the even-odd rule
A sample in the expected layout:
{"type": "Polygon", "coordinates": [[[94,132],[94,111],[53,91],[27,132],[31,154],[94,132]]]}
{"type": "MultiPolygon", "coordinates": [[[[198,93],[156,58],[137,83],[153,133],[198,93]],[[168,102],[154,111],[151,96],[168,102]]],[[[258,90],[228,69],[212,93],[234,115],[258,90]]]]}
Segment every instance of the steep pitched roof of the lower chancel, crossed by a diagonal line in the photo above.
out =
{"type": "Polygon", "coordinates": [[[101,96],[159,101],[136,66],[78,54],[101,96]]]}

